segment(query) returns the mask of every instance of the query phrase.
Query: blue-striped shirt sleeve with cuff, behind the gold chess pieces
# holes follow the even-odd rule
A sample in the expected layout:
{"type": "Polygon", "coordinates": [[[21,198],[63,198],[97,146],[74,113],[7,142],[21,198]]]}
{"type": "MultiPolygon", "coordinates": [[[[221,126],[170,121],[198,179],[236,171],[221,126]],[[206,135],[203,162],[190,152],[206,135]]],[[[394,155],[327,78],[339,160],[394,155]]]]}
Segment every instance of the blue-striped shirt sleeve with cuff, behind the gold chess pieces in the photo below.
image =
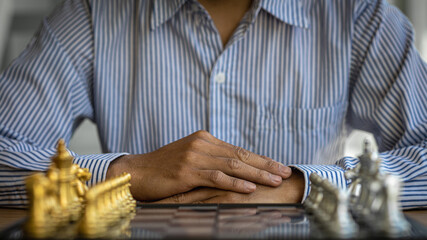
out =
{"type": "MultiPolygon", "coordinates": [[[[90,6],[65,1],[0,75],[0,206],[24,206],[25,177],[47,170],[58,139],[69,142],[83,119],[94,119],[93,51],[90,6]]],[[[124,154],[72,153],[92,173],[90,185],[124,154]]]]}

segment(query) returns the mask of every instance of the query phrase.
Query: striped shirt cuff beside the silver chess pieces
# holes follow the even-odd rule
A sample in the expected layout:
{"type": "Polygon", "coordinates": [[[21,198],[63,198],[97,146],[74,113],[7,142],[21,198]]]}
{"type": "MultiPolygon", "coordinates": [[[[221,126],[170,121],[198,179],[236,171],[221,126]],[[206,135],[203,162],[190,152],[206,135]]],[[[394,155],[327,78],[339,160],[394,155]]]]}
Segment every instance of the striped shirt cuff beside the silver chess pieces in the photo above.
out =
{"type": "Polygon", "coordinates": [[[322,178],[327,178],[341,189],[347,189],[347,180],[344,176],[344,169],[336,165],[291,165],[290,167],[301,171],[304,175],[305,186],[302,201],[304,202],[310,193],[310,174],[317,173],[322,178]]]}

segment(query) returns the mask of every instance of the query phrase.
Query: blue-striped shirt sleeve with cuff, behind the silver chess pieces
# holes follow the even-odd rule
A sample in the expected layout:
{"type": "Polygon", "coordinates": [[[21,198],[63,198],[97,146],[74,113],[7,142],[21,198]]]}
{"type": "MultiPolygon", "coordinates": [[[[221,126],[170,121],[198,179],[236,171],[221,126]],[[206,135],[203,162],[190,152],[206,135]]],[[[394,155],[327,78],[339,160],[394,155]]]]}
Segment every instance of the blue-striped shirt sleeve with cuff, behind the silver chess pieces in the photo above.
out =
{"type": "MultiPolygon", "coordinates": [[[[425,207],[427,65],[415,49],[410,22],[399,10],[386,1],[363,1],[355,9],[347,123],[375,135],[381,171],[403,182],[402,207],[425,207]]],[[[334,166],[296,165],[307,183],[304,199],[310,173],[346,188],[344,171],[357,163],[345,157],[334,166]]]]}

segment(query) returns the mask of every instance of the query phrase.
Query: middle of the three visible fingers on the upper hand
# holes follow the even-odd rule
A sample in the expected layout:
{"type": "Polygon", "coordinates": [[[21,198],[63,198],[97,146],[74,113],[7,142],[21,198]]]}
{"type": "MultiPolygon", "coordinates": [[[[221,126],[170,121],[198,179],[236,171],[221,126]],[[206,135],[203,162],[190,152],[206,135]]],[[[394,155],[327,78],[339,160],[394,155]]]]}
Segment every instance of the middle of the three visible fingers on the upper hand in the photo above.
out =
{"type": "Polygon", "coordinates": [[[205,156],[203,159],[198,164],[199,169],[218,169],[229,176],[267,186],[276,187],[282,183],[281,176],[252,167],[236,158],[205,156]]]}

